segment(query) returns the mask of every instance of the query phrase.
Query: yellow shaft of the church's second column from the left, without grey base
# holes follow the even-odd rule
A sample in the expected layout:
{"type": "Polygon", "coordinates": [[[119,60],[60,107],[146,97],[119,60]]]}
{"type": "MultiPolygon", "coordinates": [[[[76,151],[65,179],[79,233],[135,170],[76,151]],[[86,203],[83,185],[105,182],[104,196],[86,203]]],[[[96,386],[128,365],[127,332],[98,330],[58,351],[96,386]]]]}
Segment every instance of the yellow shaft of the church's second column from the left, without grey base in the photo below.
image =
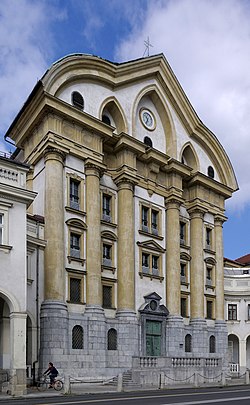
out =
{"type": "Polygon", "coordinates": [[[101,283],[101,202],[100,170],[96,164],[85,164],[87,212],[87,288],[86,310],[103,312],[101,283]]]}

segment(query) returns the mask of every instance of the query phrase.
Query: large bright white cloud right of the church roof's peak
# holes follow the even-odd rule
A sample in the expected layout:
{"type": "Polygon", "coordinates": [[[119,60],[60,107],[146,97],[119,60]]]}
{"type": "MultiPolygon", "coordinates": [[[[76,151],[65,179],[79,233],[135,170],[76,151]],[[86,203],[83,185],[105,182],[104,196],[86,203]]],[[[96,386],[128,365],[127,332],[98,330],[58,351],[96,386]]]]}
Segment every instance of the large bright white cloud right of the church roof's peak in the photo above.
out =
{"type": "Polygon", "coordinates": [[[201,120],[228,153],[240,186],[231,209],[250,203],[250,5],[239,0],[148,3],[116,51],[118,60],[163,52],[201,120]]]}

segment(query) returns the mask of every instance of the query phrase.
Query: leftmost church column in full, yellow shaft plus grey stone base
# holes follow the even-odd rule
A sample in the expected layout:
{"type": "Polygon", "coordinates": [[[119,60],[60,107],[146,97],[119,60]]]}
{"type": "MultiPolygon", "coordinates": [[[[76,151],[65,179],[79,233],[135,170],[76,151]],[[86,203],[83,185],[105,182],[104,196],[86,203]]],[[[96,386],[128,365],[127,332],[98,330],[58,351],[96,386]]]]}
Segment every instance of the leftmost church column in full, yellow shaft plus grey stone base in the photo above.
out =
{"type": "Polygon", "coordinates": [[[64,153],[48,148],[45,161],[44,296],[40,312],[40,369],[49,361],[67,367],[68,310],[65,302],[64,153]]]}

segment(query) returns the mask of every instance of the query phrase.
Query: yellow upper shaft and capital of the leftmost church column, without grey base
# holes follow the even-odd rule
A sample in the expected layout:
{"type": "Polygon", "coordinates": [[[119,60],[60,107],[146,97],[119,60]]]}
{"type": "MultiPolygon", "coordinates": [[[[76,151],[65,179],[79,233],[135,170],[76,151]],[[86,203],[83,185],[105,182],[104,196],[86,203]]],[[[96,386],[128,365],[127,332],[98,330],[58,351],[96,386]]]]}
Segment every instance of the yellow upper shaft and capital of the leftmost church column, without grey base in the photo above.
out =
{"type": "Polygon", "coordinates": [[[60,150],[47,149],[45,161],[45,300],[64,301],[64,187],[63,161],[60,150]]]}

